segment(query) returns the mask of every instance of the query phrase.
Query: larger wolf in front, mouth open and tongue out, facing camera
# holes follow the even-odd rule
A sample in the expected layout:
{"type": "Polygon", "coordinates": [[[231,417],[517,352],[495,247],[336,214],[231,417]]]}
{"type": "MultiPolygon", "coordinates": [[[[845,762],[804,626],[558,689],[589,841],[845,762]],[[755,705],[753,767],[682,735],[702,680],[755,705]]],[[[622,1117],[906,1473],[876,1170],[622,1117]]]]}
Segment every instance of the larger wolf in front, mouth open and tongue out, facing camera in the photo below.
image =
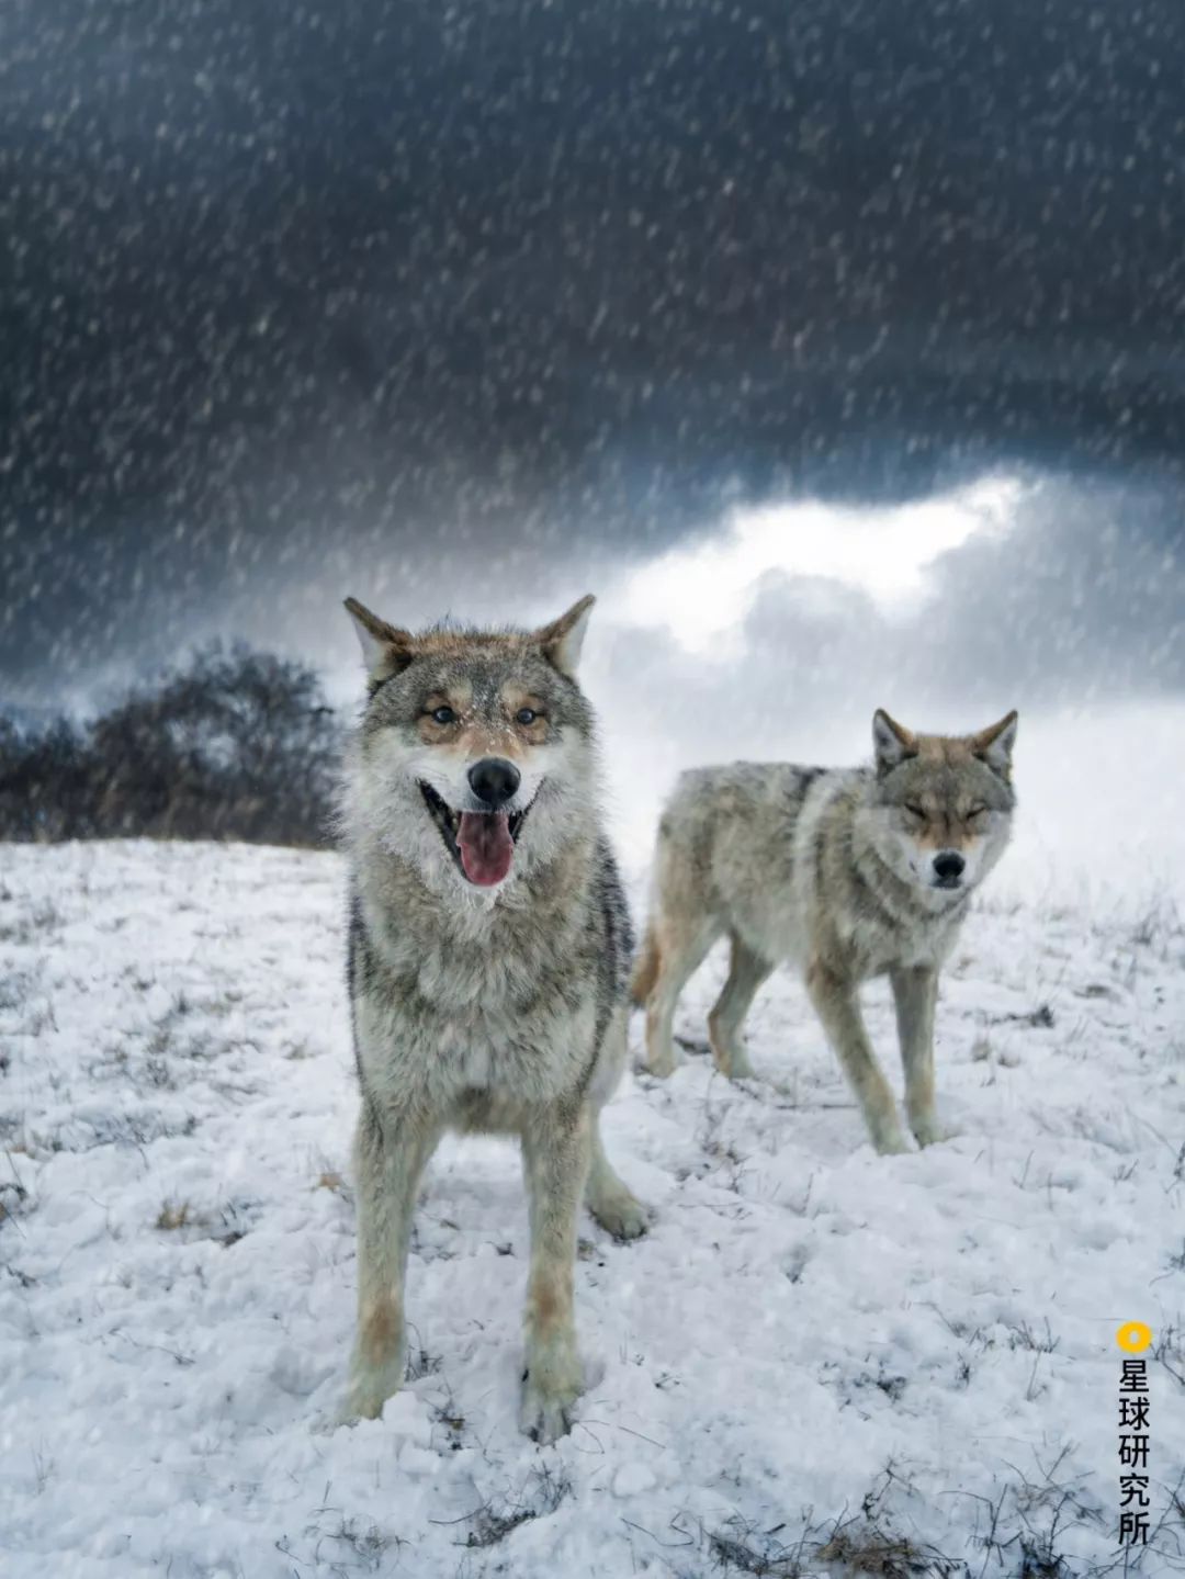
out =
{"type": "Polygon", "coordinates": [[[402,1380],[412,1208],[442,1131],[522,1142],[521,1423],[536,1440],[568,1431],[581,1391],[581,1195],[619,1238],[645,1228],[598,1131],[625,1060],[631,938],[576,682],[592,603],[533,633],[420,636],[346,605],[369,668],[342,805],[361,1083],[353,1415],[402,1380]]]}

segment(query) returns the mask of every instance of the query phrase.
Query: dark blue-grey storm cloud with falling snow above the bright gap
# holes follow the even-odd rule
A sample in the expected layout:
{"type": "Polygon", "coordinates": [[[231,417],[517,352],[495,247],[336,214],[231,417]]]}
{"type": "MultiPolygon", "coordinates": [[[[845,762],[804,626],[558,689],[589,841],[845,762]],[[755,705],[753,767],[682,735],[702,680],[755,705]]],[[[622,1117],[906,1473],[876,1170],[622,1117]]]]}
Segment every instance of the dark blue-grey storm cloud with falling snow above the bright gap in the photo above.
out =
{"type": "Polygon", "coordinates": [[[1168,497],[1182,81],[1177,0],[6,6],[0,674],[559,584],[727,488],[1168,497]]]}

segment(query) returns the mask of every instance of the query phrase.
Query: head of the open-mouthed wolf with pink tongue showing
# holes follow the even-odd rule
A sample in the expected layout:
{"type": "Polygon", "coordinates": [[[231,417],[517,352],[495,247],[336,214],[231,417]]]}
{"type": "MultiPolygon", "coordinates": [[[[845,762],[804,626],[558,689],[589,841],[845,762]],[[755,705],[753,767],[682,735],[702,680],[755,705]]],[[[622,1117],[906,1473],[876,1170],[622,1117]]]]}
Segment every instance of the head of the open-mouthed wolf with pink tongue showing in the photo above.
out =
{"type": "Polygon", "coordinates": [[[369,688],[347,827],[458,897],[494,894],[590,832],[596,756],[576,663],[592,605],[535,632],[417,636],[347,598],[369,688]]]}

